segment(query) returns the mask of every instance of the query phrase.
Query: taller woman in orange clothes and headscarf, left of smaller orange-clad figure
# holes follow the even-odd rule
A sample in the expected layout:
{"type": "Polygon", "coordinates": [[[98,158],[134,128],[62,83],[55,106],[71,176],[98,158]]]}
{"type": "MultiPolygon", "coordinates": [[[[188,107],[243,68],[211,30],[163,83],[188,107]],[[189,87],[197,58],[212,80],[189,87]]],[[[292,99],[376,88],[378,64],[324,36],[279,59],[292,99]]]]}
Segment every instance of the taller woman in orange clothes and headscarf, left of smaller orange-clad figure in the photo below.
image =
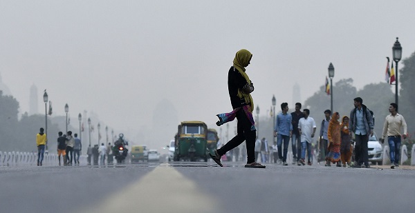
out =
{"type": "Polygon", "coordinates": [[[326,166],[330,166],[330,163],[337,163],[340,167],[340,115],[338,112],[333,113],[329,123],[329,130],[327,131],[327,138],[329,139],[329,154],[326,156],[326,166]]]}

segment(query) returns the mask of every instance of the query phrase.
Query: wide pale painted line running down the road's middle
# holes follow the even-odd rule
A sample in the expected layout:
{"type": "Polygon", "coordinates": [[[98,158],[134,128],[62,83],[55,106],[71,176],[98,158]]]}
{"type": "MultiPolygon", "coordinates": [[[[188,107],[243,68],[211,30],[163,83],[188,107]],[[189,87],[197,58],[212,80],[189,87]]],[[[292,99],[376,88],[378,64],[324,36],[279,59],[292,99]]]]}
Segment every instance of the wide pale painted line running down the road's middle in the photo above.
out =
{"type": "Polygon", "coordinates": [[[166,165],[81,212],[216,212],[214,198],[202,194],[196,183],[166,165]]]}

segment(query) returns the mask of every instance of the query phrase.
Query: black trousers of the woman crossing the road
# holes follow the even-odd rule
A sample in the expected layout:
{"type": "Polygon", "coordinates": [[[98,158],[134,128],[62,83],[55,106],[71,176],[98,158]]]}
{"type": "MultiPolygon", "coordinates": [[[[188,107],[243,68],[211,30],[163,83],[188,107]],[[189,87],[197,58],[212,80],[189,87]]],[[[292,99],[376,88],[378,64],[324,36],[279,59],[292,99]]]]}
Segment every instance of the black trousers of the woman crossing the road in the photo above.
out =
{"type": "Polygon", "coordinates": [[[237,119],[237,135],[217,150],[217,152],[219,155],[226,154],[226,152],[236,148],[243,141],[246,141],[247,163],[253,163],[255,162],[255,137],[257,136],[257,130],[250,129],[252,123],[250,123],[248,116],[246,116],[242,109],[237,112],[237,119]]]}

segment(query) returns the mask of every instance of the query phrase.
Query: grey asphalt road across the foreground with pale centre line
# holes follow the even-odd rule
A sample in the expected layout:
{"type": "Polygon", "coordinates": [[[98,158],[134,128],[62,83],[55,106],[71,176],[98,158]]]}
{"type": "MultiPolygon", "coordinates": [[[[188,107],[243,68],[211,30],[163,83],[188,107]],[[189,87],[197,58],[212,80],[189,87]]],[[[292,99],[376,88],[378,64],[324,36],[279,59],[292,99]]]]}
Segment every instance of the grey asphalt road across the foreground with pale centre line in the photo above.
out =
{"type": "Polygon", "coordinates": [[[242,162],[0,168],[0,212],[413,212],[415,170],[242,162]]]}

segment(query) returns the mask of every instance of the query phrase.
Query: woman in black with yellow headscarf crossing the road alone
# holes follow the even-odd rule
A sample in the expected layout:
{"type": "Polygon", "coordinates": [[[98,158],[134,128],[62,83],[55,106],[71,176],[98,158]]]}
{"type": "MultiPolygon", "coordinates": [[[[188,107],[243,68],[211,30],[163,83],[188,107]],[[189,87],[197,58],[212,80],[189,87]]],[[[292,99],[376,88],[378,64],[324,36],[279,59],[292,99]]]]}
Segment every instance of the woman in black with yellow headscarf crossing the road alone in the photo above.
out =
{"type": "Polygon", "coordinates": [[[220,166],[221,156],[226,152],[236,148],[243,141],[246,141],[246,152],[248,160],[245,165],[246,168],[265,168],[255,162],[255,137],[257,130],[252,116],[254,103],[250,95],[254,91],[254,84],[250,81],[246,74],[245,68],[250,64],[252,54],[248,50],[239,50],[234,58],[233,66],[228,72],[228,91],[230,96],[230,103],[234,109],[230,113],[217,114],[219,121],[216,125],[222,125],[235,119],[238,119],[237,135],[228,141],[219,150],[214,150],[214,154],[209,153],[212,159],[220,166]]]}

